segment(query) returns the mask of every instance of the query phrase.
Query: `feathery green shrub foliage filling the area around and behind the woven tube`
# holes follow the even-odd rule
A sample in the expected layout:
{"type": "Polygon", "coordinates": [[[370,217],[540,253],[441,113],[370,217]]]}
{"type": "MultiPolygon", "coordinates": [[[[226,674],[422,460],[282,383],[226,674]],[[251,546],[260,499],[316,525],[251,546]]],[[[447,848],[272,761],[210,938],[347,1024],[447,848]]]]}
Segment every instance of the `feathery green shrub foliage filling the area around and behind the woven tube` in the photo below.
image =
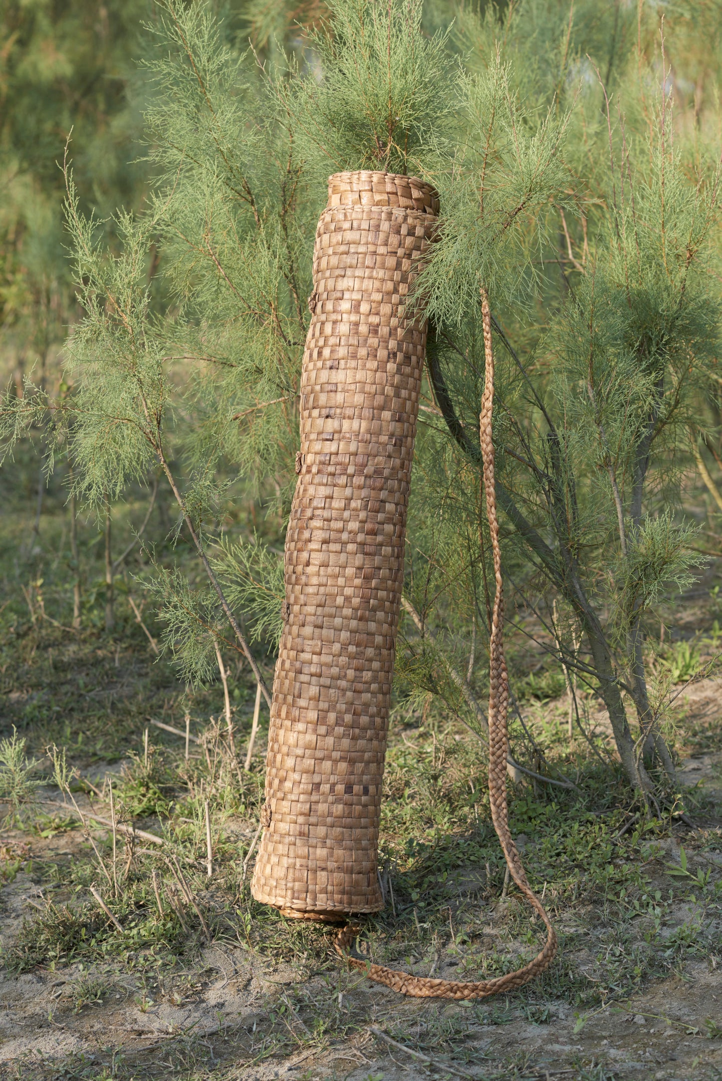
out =
{"type": "Polygon", "coordinates": [[[451,25],[443,3],[424,15],[418,0],[333,0],[302,5],[293,39],[277,42],[286,3],[226,21],[201,0],[153,8],[139,77],[147,198],[135,215],[132,200],[107,217],[88,208],[79,145],[65,183],[82,316],[65,381],[11,389],[0,435],[10,451],[40,444],[42,427],[49,476],[60,454],[96,511],[160,471],[179,516],[140,577],[187,682],[215,678],[228,622],[238,648],[248,632],[273,653],[280,631],[325,177],[415,172],[436,185],[442,218],[413,297],[430,369],[405,592],[424,631],[404,620],[397,688],[409,708],[432,694],[478,722],[493,592],[485,290],[510,619],[533,611],[552,654],[543,688],[523,682],[528,667],[512,683],[522,697],[561,690],[564,659],[602,694],[630,783],[653,786],[656,756],[671,785],[661,737],[635,739],[628,712],[640,734],[664,713],[644,637],[700,565],[682,479],[688,429],[705,403],[713,414],[721,174],[696,134],[717,106],[680,82],[672,107],[667,81],[670,57],[698,78],[717,70],[711,54],[695,67],[677,12],[660,54],[647,6],[638,21],[620,5],[525,0],[465,8],[451,25]],[[242,27],[262,55],[239,48],[242,27]],[[187,536],[207,584],[184,562],[187,536]]]}

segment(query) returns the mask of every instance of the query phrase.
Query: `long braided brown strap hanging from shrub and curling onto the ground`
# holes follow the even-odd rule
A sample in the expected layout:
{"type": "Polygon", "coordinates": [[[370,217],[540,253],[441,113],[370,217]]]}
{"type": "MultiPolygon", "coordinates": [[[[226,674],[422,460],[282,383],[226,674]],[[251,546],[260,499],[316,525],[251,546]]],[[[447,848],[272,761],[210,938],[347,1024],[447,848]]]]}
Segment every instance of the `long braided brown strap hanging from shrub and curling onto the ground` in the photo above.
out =
{"type": "Polygon", "coordinates": [[[484,358],[485,383],[480,414],[480,437],[484,459],[484,489],[486,493],[486,516],[491,534],[494,553],[494,576],[496,595],[491,613],[491,633],[489,642],[489,803],[491,822],[501,844],[507,866],[514,882],[524,894],[535,911],[541,917],[547,927],[547,942],[534,960],[516,972],[496,976],[494,979],[483,979],[480,983],[460,983],[452,979],[431,979],[425,976],[411,976],[405,972],[386,969],[380,964],[371,964],[358,955],[350,953],[352,944],[358,933],[358,924],[350,923],[338,932],[334,940],[337,951],[349,964],[364,972],[369,979],[384,984],[402,995],[413,998],[441,999],[485,999],[490,995],[522,987],[544,971],[556,952],[556,934],[539,898],[533,892],[526,878],[526,871],[509,829],[507,809],[507,756],[509,753],[509,736],[507,732],[507,710],[509,706],[509,677],[503,649],[503,580],[501,577],[501,549],[499,547],[499,522],[497,519],[497,498],[494,486],[494,440],[491,436],[491,419],[494,416],[494,351],[491,348],[491,312],[486,290],[482,288],[482,318],[484,324],[484,358]]]}

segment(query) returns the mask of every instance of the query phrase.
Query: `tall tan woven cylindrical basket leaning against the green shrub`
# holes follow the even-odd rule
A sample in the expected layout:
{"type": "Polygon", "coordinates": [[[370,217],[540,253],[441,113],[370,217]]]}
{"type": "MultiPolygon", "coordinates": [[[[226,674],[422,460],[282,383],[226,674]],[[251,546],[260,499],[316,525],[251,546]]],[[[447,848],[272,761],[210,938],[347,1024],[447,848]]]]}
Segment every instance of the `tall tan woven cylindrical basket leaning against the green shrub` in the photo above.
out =
{"type": "Polygon", "coordinates": [[[405,304],[438,203],[421,181],[329,179],[314,250],[286,625],[253,896],[289,916],[382,908],[381,782],[425,325],[405,304]]]}

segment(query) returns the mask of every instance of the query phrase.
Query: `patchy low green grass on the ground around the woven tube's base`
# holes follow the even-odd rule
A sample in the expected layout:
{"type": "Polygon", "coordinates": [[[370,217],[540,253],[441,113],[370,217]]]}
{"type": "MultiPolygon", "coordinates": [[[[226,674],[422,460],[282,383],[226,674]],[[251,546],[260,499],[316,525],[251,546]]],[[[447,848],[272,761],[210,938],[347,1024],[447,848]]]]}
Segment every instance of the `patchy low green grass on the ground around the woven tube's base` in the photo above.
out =
{"type": "MultiPolygon", "coordinates": [[[[130,975],[140,987],[142,1011],[159,996],[171,1001],[172,996],[182,998],[184,979],[202,978],[197,972],[206,945],[205,922],[215,942],[240,947],[262,965],[289,963],[298,983],[286,989],[285,997],[268,999],[255,1033],[239,1030],[219,1036],[213,1050],[208,1041],[189,1033],[180,1036],[163,1050],[167,1065],[162,1067],[154,1066],[152,1056],[116,1049],[99,1052],[92,1060],[73,1056],[64,1063],[63,1073],[53,1073],[56,1064],[47,1069],[34,1066],[35,1073],[18,1065],[18,1070],[26,1071],[17,1076],[24,1081],[52,1076],[99,1081],[150,1076],[188,1081],[232,1078],[239,1077],[234,1070],[241,1069],[234,1063],[248,1069],[249,1064],[299,1047],[323,1049],[360,1031],[369,1020],[368,1006],[363,1002],[339,1005],[339,991],[357,977],[340,965],[330,949],[329,932],[288,921],[257,904],[250,896],[249,878],[240,881],[262,802],[261,753],[251,772],[241,771],[239,776],[228,752],[224,722],[219,721],[223,710],[220,683],[195,691],[181,685],[172,667],[149,651],[122,588],[117,591],[116,626],[105,631],[104,593],[100,586],[92,586],[93,580],[96,585],[101,580],[99,546],[84,555],[90,585],[84,592],[82,627],[75,632],[63,629],[71,615],[63,522],[62,503],[51,494],[41,528],[42,553],[25,560],[17,552],[28,531],[27,518],[18,512],[17,518],[3,519],[0,532],[4,579],[0,678],[5,726],[0,738],[10,740],[0,744],[0,758],[4,756],[0,784],[10,801],[4,806],[30,841],[66,836],[76,853],[70,860],[50,855],[35,857],[30,864],[18,848],[0,849],[2,882],[13,882],[24,870],[50,898],[44,911],[32,911],[17,939],[4,947],[2,963],[9,973],[40,969],[61,974],[70,964],[82,964],[82,973],[74,977],[58,1002],[58,1007],[65,1003],[81,1014],[100,1010],[104,996],[116,993],[108,989],[123,974],[130,975]],[[31,583],[40,579],[42,584],[31,589],[31,583]],[[192,716],[193,734],[201,740],[192,745],[188,761],[183,739],[150,723],[157,719],[183,730],[186,711],[192,716]],[[200,916],[182,896],[171,867],[153,845],[136,842],[131,851],[119,836],[114,872],[107,829],[91,829],[93,846],[71,809],[35,802],[37,783],[50,779],[47,748],[53,744],[65,750],[74,768],[115,766],[118,820],[134,822],[166,839],[200,916]],[[213,831],[210,882],[205,870],[206,800],[213,831]],[[153,888],[154,871],[162,913],[153,888]],[[102,911],[91,886],[101,892],[122,932],[102,911]],[[193,972],[196,975],[188,975],[193,972]],[[305,984],[312,976],[316,977],[313,993],[305,984]]],[[[162,532],[158,530],[154,539],[162,555],[162,532]]],[[[188,573],[195,573],[189,558],[188,573]]],[[[130,573],[126,585],[137,589],[130,573]]],[[[144,617],[157,635],[147,611],[144,617]]],[[[407,1022],[389,1028],[401,1042],[411,1038],[415,1047],[468,1063],[480,1077],[489,1079],[522,1077],[528,1064],[520,1053],[518,1060],[507,1063],[503,1072],[498,1064],[480,1056],[468,1039],[480,1027],[503,1026],[520,1016],[533,1025],[553,1023],[560,1003],[565,1003],[578,1015],[581,1030],[595,1010],[626,1001],[654,979],[683,974],[691,960],[722,963],[714,930],[720,912],[719,871],[706,869],[698,858],[705,846],[722,848],[721,830],[711,825],[693,841],[685,840],[687,873],[668,866],[669,858],[660,849],[680,829],[669,815],[640,817],[619,836],[635,810],[619,770],[592,755],[578,732],[569,740],[565,699],[559,707],[544,704],[550,695],[563,692],[563,685],[546,669],[524,676],[531,667],[528,655],[513,639],[511,646],[510,656],[518,658],[518,670],[512,676],[520,700],[526,703],[526,722],[538,752],[546,756],[554,775],[568,777],[577,786],[568,790],[529,779],[509,787],[512,833],[521,840],[531,884],[543,894],[559,930],[560,955],[547,973],[508,1000],[470,1004],[463,1015],[449,1015],[444,1003],[432,1002],[419,1013],[421,1027],[410,1037],[407,1022]],[[579,963],[582,955],[583,963],[579,963]]],[[[236,746],[244,749],[253,681],[247,668],[236,665],[231,666],[229,684],[236,746]]],[[[265,709],[262,718],[267,718],[265,709]]],[[[512,747],[523,750],[524,736],[513,719],[510,730],[512,747]]],[[[722,725],[714,719],[705,724],[682,720],[678,739],[681,749],[717,752],[722,750],[722,725]]],[[[595,747],[604,759],[608,747],[603,737],[595,747]]],[[[78,777],[69,789],[79,801],[90,795],[99,813],[108,816],[107,784],[101,790],[103,800],[78,777]]],[[[66,797],[69,803],[70,796],[66,797]]],[[[686,808],[687,813],[698,814],[693,802],[697,797],[692,797],[680,798],[677,810],[686,808]]],[[[60,802],[60,793],[55,799],[60,802]]],[[[709,805],[703,810],[713,811],[709,805]]],[[[543,929],[513,884],[500,900],[504,863],[490,823],[480,744],[436,702],[423,712],[407,709],[401,697],[395,703],[380,868],[386,907],[366,921],[362,935],[362,948],[376,961],[420,974],[435,965],[447,977],[480,979],[512,971],[538,950],[543,929]]],[[[382,1047],[378,1050],[383,1053],[382,1047]]],[[[582,1060],[577,1076],[590,1081],[612,1077],[599,1063],[582,1060]]]]}

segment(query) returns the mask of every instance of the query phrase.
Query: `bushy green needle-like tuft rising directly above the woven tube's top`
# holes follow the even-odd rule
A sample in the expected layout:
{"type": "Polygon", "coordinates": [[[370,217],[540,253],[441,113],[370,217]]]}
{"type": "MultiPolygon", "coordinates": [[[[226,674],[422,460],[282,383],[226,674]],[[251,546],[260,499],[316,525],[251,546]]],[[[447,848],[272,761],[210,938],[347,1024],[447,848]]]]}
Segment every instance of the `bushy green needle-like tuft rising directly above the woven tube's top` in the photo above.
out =
{"type": "Polygon", "coordinates": [[[313,62],[276,84],[302,157],[321,176],[355,169],[424,175],[448,155],[458,109],[447,35],[422,32],[421,0],[327,6],[328,23],[307,38],[313,62]]]}

